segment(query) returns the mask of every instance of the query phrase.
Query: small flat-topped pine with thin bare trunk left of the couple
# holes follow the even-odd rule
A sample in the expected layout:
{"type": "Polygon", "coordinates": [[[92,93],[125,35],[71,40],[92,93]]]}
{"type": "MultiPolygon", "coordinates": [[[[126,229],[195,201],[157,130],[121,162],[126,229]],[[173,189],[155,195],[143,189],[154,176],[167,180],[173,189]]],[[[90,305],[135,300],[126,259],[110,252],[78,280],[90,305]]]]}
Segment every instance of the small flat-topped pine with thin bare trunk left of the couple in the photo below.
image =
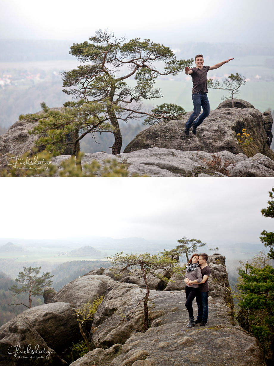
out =
{"type": "Polygon", "coordinates": [[[176,266],[176,259],[171,259],[166,255],[159,254],[123,254],[117,253],[110,259],[113,270],[117,274],[117,279],[125,270],[130,269],[133,275],[139,275],[143,278],[146,288],[146,294],[144,298],[140,300],[144,303],[144,331],[149,328],[149,318],[148,318],[148,298],[149,298],[149,286],[147,281],[147,274],[150,273],[152,276],[157,277],[165,282],[170,281],[168,277],[163,276],[159,273],[159,270],[168,273],[168,276],[172,276],[173,273],[182,275],[181,268],[176,266]],[[171,266],[172,265],[172,266],[171,266]]]}

